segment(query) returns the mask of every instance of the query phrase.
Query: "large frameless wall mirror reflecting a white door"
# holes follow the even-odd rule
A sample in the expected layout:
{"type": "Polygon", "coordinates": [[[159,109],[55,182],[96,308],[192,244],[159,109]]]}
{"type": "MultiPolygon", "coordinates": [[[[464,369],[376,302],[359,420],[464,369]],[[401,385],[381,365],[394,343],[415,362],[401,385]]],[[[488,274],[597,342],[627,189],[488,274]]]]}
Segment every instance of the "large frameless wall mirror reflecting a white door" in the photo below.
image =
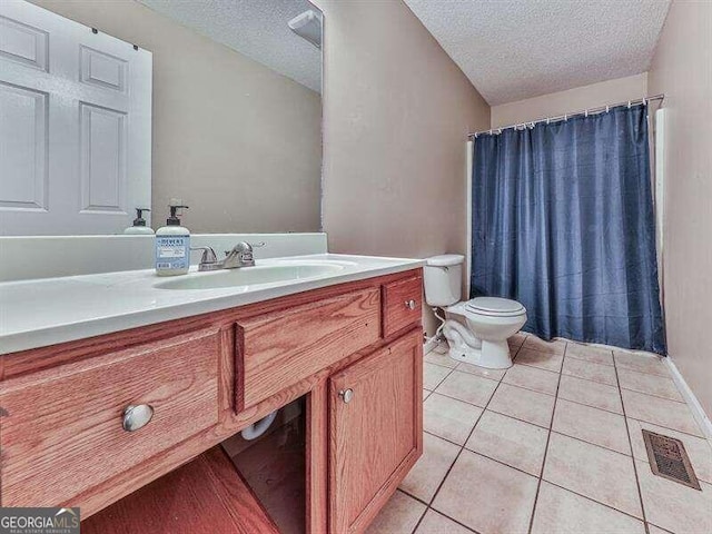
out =
{"type": "Polygon", "coordinates": [[[320,230],[307,0],[0,3],[0,235],[320,230]]]}

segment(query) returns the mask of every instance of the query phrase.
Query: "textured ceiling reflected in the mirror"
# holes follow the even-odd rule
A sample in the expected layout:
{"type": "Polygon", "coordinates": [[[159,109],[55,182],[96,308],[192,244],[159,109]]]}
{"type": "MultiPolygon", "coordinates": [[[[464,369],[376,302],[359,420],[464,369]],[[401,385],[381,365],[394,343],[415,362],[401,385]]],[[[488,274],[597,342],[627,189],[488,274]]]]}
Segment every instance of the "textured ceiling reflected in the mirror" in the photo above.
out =
{"type": "Polygon", "coordinates": [[[139,0],[197,32],[322,92],[322,51],[287,22],[307,0],[139,0]]]}

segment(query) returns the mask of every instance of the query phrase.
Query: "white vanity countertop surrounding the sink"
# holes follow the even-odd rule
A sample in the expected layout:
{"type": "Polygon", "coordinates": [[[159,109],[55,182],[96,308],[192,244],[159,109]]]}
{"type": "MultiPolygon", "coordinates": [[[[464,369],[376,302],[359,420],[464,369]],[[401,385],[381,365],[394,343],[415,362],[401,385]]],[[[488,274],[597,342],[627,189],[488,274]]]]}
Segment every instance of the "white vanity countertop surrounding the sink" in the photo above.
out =
{"type": "Polygon", "coordinates": [[[214,289],[156,287],[167,280],[214,275],[196,273],[195,267],[188,275],[175,277],[158,277],[148,269],[0,283],[0,354],[217,312],[425,265],[421,259],[336,254],[263,259],[257,265],[284,265],[295,260],[325,263],[338,268],[312,278],[214,289]]]}

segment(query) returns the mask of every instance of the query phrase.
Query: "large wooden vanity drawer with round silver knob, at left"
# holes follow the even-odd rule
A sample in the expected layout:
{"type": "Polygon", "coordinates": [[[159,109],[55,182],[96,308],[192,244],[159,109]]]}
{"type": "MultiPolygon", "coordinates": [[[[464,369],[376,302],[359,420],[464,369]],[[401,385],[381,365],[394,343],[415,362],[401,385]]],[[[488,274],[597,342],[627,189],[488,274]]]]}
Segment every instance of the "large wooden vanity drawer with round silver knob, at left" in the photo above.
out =
{"type": "Polygon", "coordinates": [[[219,330],[0,383],[3,506],[81,505],[82,492],[218,422],[219,330]],[[149,405],[123,429],[125,408],[149,405]]]}

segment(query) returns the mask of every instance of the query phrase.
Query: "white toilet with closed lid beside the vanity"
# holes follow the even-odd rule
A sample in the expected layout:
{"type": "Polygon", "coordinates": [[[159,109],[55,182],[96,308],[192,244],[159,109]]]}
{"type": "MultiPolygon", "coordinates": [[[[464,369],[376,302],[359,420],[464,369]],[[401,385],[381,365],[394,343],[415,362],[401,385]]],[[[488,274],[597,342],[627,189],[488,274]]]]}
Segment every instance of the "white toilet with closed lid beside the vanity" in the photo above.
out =
{"type": "Polygon", "coordinates": [[[458,301],[464,259],[458,254],[434,256],[424,269],[426,303],[445,309],[438,332],[447,339],[449,357],[490,369],[512,367],[507,338],[526,323],[526,308],[498,297],[458,301]]]}

